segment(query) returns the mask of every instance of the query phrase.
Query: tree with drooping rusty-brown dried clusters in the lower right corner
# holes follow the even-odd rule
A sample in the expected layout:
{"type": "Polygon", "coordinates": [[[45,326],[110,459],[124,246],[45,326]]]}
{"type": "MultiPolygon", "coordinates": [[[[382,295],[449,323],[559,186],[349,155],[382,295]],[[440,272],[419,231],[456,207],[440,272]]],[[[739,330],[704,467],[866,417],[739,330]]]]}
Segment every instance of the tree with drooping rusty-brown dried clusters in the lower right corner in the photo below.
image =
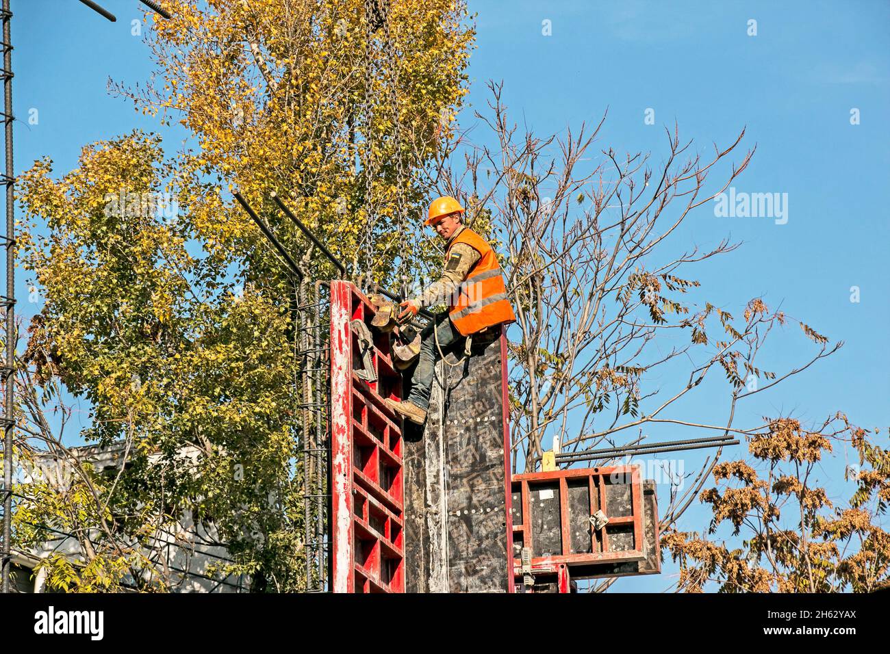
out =
{"type": "MultiPolygon", "coordinates": [[[[877,435],[877,434],[875,434],[877,435]]],[[[890,584],[890,534],[879,516],[890,502],[890,452],[870,432],[830,417],[817,429],[779,418],[748,440],[752,461],[714,468],[707,534],[671,530],[661,537],[680,565],[677,588],[724,593],[869,593],[890,584]],[[823,456],[838,444],[859,455],[845,479],[857,488],[835,505],[817,479],[823,456]],[[709,539],[724,523],[732,537],[709,539]]]]}

